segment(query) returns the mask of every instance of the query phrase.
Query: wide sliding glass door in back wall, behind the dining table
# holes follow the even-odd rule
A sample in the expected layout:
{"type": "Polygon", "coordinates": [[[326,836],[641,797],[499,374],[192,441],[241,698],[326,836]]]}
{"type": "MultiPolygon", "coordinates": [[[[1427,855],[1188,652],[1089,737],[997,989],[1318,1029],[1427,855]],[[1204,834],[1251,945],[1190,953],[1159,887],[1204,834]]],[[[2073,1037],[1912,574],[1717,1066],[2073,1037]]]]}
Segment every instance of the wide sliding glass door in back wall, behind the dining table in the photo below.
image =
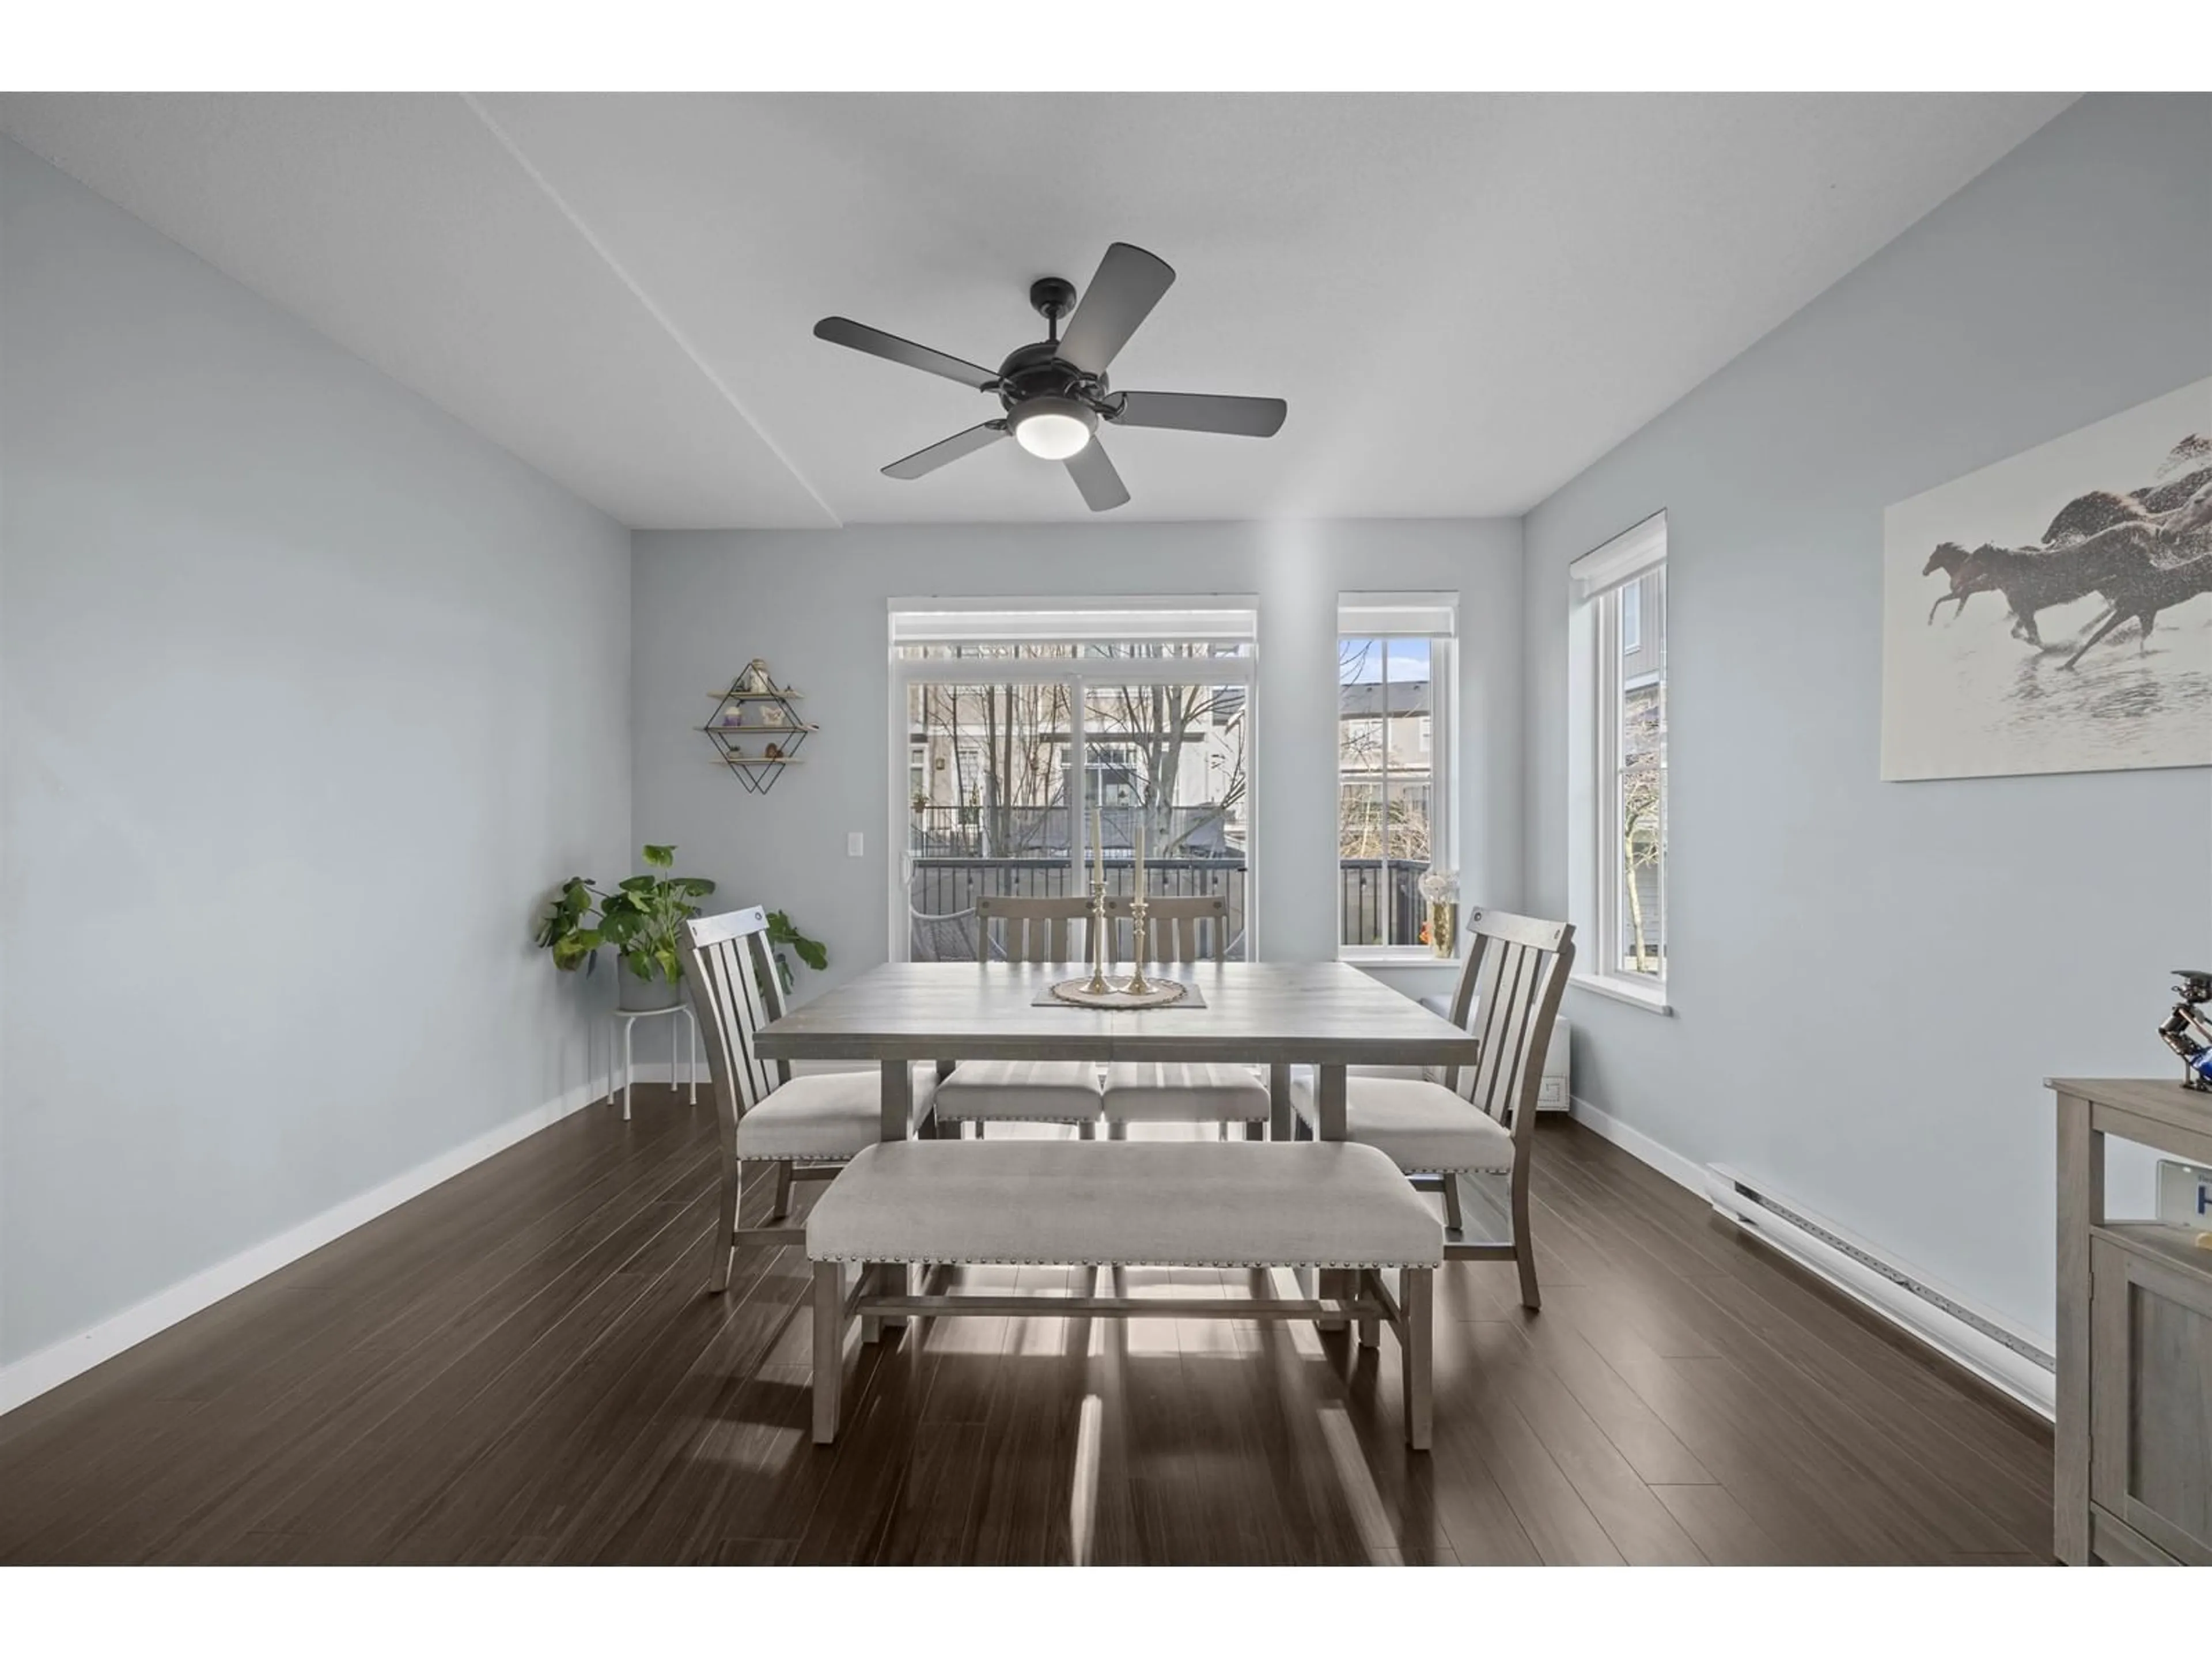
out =
{"type": "Polygon", "coordinates": [[[894,801],[898,960],[973,960],[975,898],[1106,887],[1221,896],[1248,953],[1254,613],[1194,602],[891,608],[891,741],[931,757],[894,801]],[[947,765],[949,761],[949,765],[947,765]]]}

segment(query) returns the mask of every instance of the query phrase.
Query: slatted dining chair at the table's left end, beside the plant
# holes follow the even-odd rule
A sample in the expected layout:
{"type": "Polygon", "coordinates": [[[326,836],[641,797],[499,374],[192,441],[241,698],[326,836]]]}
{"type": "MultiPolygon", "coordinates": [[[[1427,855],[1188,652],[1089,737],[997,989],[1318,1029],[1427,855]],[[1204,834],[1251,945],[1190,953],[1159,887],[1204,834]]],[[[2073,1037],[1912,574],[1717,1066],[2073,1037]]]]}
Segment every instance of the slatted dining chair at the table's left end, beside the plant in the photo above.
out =
{"type": "MultiPolygon", "coordinates": [[[[768,911],[734,909],[684,925],[686,980],[706,1029],[714,1117],[721,1126],[721,1228],[714,1234],[712,1285],[730,1287],[739,1245],[805,1243],[805,1228],[776,1225],[790,1214],[794,1181],[827,1181],[847,1159],[883,1139],[883,1077],[865,1071],[792,1075],[785,1060],[761,1060],[752,1037],[783,1018],[783,982],[768,949],[768,911]],[[765,1225],[739,1225],[745,1164],[774,1168],[765,1225]]],[[[936,1068],[916,1066],[916,1119],[929,1117],[936,1068]]],[[[909,1126],[911,1128],[911,1126],[909,1126]]]]}

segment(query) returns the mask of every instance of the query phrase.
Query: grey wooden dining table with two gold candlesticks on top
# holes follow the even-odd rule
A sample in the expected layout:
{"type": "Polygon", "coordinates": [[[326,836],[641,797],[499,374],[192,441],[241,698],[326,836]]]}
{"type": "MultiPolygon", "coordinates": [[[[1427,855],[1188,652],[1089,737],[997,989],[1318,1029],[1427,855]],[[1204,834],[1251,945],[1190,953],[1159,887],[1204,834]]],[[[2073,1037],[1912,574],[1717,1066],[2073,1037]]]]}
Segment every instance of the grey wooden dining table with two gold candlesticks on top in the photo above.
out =
{"type": "Polygon", "coordinates": [[[914,1062],[1219,1062],[1267,1068],[1270,1137],[1290,1139],[1290,1068],[1314,1066],[1318,1139],[1345,1139],[1347,1066],[1467,1066],[1471,1033],[1349,962],[1179,962],[1159,1009],[1051,998],[1066,962],[887,962],[761,1026],[761,1060],[863,1060],[883,1071],[883,1139],[914,1119],[914,1062]]]}

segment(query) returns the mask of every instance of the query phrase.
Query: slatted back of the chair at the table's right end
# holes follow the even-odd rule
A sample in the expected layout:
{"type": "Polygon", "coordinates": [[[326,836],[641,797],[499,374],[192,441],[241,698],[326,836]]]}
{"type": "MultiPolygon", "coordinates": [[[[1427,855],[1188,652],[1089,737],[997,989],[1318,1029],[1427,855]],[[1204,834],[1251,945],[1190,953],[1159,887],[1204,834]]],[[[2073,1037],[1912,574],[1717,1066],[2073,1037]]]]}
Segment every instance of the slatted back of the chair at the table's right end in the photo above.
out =
{"type": "Polygon", "coordinates": [[[1471,958],[1453,991],[1451,1020],[1482,1040],[1482,1053],[1458,1066],[1453,1088],[1524,1148],[1535,1133],[1551,1026],[1575,964],[1575,927],[1478,909],[1464,931],[1471,958]]]}

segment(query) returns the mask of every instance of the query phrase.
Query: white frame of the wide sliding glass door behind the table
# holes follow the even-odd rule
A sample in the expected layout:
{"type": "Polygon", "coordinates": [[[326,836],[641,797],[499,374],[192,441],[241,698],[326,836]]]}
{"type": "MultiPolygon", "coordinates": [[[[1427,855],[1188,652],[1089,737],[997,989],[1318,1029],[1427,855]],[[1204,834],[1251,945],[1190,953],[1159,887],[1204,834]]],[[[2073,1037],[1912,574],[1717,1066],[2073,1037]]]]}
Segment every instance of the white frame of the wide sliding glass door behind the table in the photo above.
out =
{"type": "MultiPolygon", "coordinates": [[[[889,752],[891,752],[891,814],[885,830],[885,847],[891,856],[887,865],[887,922],[889,960],[907,962],[914,949],[911,874],[907,872],[907,812],[909,796],[900,779],[905,770],[898,752],[907,743],[909,706],[914,686],[980,686],[980,684],[1024,684],[1064,686],[1068,690],[1068,754],[1064,770],[1084,781],[1091,790],[1084,684],[1106,686],[1243,686],[1245,723],[1245,799],[1256,801],[1259,792],[1259,602],[1250,595],[1186,593],[1161,597],[1110,597],[1110,599],[891,599],[889,611],[889,657],[891,657],[891,708],[889,708],[889,752]],[[1172,639],[1206,641],[1223,639],[1243,646],[1239,657],[1095,657],[1095,659],[1009,659],[987,657],[900,657],[900,646],[911,644],[1066,644],[1082,639],[1172,639]],[[1004,670],[1020,668],[1020,675],[1004,670]],[[1197,672],[1194,672],[1197,670],[1197,672]]],[[[1082,869],[1091,843],[1082,834],[1068,836],[1071,889],[1082,891],[1082,869]]],[[[1259,960],[1259,827],[1256,814],[1245,814],[1245,960],[1259,960]]]]}

